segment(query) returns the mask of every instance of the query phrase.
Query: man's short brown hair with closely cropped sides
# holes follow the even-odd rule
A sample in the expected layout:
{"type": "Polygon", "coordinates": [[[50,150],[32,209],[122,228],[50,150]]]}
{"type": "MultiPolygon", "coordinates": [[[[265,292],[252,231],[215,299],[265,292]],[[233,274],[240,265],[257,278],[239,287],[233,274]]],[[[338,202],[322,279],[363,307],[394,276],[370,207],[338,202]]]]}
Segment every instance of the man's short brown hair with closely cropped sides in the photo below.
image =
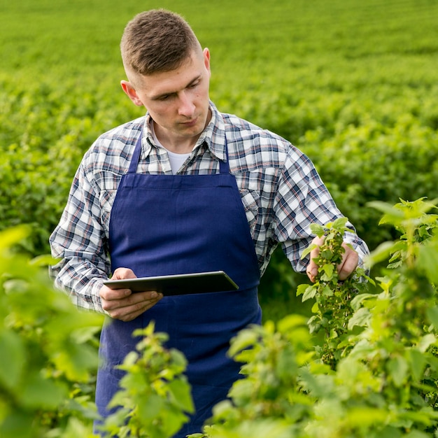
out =
{"type": "Polygon", "coordinates": [[[188,22],[164,9],[136,15],[120,43],[125,69],[141,75],[177,69],[200,47],[188,22]]]}

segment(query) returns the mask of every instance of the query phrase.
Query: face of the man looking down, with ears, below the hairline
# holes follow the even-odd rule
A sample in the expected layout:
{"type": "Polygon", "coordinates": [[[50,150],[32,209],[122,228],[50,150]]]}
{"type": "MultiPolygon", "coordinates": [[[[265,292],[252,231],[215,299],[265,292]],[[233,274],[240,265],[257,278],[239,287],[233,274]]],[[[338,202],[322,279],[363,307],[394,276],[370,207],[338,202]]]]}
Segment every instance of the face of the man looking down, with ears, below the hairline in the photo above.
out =
{"type": "Polygon", "coordinates": [[[187,62],[173,71],[148,76],[127,74],[133,80],[122,80],[122,89],[134,104],[148,109],[160,141],[193,146],[211,118],[209,50],[192,52],[187,62]]]}

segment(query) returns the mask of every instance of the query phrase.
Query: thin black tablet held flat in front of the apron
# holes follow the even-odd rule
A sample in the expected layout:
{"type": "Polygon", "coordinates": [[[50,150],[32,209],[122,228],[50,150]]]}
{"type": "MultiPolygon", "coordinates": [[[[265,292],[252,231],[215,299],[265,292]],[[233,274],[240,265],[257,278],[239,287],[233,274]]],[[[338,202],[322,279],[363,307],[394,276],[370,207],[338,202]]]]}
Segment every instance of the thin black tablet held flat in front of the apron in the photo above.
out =
{"type": "Polygon", "coordinates": [[[111,289],[130,289],[132,292],[156,290],[163,295],[188,295],[239,289],[224,271],[108,280],[104,281],[104,285],[111,289]]]}

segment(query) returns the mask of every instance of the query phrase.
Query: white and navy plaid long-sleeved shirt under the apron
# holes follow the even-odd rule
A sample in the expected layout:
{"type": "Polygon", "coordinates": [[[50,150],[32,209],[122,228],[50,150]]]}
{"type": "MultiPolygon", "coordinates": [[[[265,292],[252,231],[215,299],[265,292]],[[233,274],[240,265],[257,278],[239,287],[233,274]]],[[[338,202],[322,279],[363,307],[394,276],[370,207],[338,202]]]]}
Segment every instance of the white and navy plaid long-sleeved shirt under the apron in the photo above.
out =
{"type": "MultiPolygon", "coordinates": [[[[235,115],[219,113],[213,103],[210,106],[211,121],[178,174],[218,172],[219,160],[226,160],[226,136],[229,169],[236,177],[260,275],[278,243],[292,267],[305,271],[309,260],[300,257],[313,239],[309,225],[343,215],[306,155],[280,136],[235,115]]],[[[149,127],[146,114],[99,136],[80,163],[62,218],[50,236],[52,255],[61,259],[50,267],[50,275],[77,306],[102,311],[99,289],[111,271],[111,207],[142,128],[137,172],[171,174],[167,152],[155,145],[149,127]]],[[[362,264],[366,244],[355,233],[347,233],[345,239],[358,251],[362,264]]]]}

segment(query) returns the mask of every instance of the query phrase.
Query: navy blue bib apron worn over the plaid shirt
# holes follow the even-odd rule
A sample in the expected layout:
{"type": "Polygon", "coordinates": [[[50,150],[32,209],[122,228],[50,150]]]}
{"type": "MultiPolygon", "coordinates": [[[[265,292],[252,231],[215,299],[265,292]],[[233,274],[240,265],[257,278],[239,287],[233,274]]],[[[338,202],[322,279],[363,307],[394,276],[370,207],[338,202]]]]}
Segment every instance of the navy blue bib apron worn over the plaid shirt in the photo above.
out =
{"type": "Polygon", "coordinates": [[[100,353],[106,365],[97,376],[96,403],[99,414],[108,415],[106,405],[123,376],[114,367],[134,350],[138,339],[132,332],[154,320],[157,332],[169,334],[167,346],[188,359],[186,375],[196,413],[175,435],[183,438],[201,431],[212,407],[239,378],[240,364],[226,353],[239,330],[261,322],[260,271],[228,163],[220,161],[220,172],[211,175],[136,174],[141,136],[111,211],[112,270],[128,267],[139,277],[222,270],[239,290],[163,297],[132,321],[105,325],[100,353]]]}

